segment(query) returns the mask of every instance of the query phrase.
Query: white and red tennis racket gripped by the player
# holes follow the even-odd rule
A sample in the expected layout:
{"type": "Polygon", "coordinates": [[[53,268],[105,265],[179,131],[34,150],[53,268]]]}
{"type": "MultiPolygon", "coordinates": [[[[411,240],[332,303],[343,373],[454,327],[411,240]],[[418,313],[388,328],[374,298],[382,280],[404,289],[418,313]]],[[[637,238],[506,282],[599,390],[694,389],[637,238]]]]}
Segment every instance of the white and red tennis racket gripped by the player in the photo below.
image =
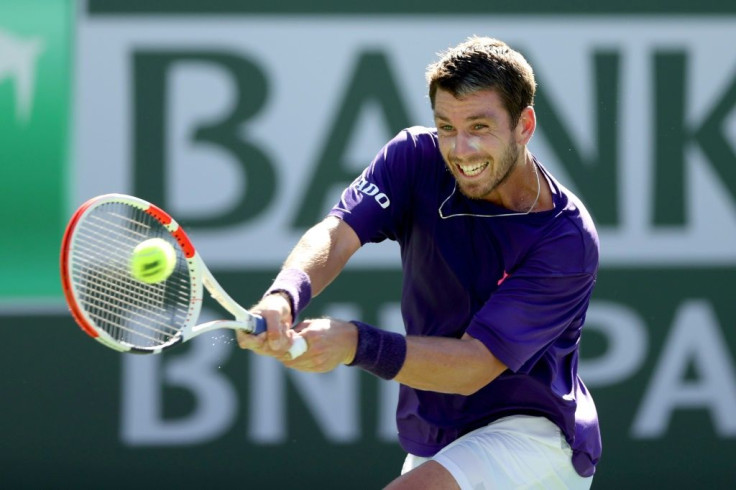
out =
{"type": "MultiPolygon", "coordinates": [[[[266,331],[262,317],[222,289],[176,221],[132,196],[98,196],[74,213],[61,248],[61,282],[82,330],[121,352],[158,354],[220,328],[266,331]],[[133,249],[150,238],[169,242],[177,257],[171,275],[155,284],[137,280],[130,270],[133,249]],[[235,320],[197,324],[203,286],[235,320]]],[[[306,350],[306,341],[296,337],[289,353],[296,358],[306,350]]]]}

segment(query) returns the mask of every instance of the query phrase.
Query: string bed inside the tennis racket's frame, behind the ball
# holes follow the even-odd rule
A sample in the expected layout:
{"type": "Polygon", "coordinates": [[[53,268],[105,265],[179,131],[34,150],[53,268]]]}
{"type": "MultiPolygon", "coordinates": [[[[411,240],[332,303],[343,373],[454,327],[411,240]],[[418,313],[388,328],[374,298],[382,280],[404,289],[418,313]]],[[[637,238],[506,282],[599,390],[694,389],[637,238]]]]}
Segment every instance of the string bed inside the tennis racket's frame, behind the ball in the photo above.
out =
{"type": "Polygon", "coordinates": [[[78,225],[70,263],[78,297],[89,317],[118,341],[139,348],[167,344],[189,316],[189,273],[178,247],[180,260],[169,279],[145,284],[130,274],[135,246],[168,235],[143,210],[123,203],[100,206],[78,225]]]}

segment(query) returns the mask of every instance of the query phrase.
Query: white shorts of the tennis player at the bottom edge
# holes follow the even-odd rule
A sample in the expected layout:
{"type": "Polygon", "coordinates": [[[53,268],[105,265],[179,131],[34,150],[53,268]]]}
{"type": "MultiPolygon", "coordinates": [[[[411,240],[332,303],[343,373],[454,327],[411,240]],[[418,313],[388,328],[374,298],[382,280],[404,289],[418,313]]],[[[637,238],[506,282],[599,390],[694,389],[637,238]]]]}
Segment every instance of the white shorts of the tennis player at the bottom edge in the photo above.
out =
{"type": "Polygon", "coordinates": [[[432,458],[409,454],[401,474],[433,460],[462,490],[589,489],[572,465],[572,449],[559,427],[544,417],[513,415],[474,430],[432,458]]]}

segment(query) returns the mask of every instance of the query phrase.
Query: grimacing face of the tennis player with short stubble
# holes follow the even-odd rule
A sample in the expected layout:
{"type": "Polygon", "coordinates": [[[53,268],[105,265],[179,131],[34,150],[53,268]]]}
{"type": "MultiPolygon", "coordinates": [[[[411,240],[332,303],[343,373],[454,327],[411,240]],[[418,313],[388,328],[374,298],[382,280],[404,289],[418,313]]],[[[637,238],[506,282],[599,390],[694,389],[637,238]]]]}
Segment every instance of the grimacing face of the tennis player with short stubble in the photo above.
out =
{"type": "Polygon", "coordinates": [[[495,91],[481,90],[456,99],[437,90],[434,121],[440,152],[467,197],[493,200],[493,191],[520,159],[510,119],[495,91]]]}

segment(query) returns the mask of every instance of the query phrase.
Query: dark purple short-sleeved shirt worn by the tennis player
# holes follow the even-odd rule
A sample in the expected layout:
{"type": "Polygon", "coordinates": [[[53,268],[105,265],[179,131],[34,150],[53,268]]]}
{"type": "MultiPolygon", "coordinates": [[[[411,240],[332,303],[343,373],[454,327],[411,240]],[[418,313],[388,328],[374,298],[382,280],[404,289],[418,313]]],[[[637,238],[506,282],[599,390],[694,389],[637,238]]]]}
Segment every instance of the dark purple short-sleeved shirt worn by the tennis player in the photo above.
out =
{"type": "Polygon", "coordinates": [[[557,424],[579,474],[601,453],[595,405],[577,375],[585,312],[598,270],[598,235],[581,202],[536,162],[554,209],[508,213],[453,193],[434,129],[402,131],[342,194],[330,215],[361,243],[401,246],[401,311],[408,335],[480,340],[508,369],[469,395],[400,386],[399,441],[432,456],[508,415],[557,424]],[[442,206],[442,216],[439,208],[442,206]]]}

